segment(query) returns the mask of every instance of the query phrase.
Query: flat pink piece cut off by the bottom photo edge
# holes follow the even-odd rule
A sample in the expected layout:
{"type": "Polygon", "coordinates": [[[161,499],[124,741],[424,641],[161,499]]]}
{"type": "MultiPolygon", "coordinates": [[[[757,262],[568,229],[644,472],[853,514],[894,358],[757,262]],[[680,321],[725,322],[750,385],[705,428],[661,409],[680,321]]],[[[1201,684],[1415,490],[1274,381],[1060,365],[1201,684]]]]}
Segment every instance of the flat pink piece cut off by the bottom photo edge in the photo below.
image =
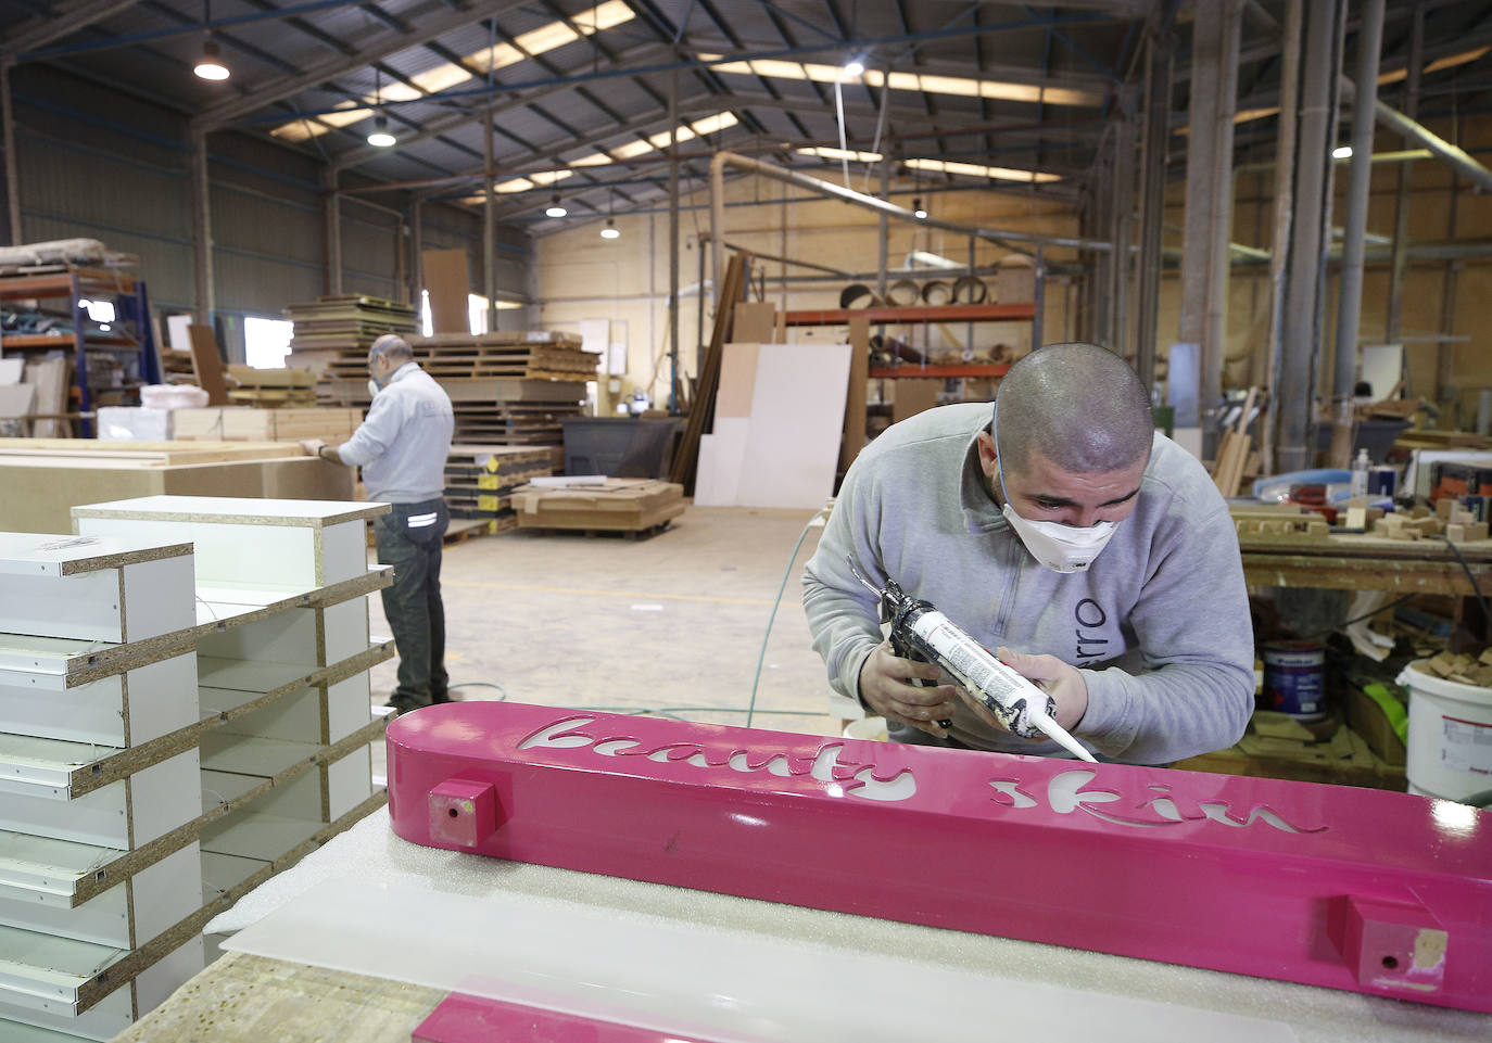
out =
{"type": "Polygon", "coordinates": [[[410,1043],[709,1043],[609,1021],[454,992],[409,1037],[410,1043]]]}

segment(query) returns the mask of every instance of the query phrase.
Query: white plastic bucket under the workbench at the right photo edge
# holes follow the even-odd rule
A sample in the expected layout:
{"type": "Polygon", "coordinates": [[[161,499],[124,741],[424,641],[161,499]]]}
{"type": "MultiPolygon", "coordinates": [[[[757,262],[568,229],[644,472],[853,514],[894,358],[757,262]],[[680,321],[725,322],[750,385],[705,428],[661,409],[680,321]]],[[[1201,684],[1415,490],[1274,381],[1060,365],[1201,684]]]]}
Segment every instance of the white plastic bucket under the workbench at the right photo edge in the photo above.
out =
{"type": "Polygon", "coordinates": [[[1492,688],[1437,677],[1423,660],[1397,680],[1408,688],[1408,791],[1465,800],[1492,789],[1492,688]]]}

